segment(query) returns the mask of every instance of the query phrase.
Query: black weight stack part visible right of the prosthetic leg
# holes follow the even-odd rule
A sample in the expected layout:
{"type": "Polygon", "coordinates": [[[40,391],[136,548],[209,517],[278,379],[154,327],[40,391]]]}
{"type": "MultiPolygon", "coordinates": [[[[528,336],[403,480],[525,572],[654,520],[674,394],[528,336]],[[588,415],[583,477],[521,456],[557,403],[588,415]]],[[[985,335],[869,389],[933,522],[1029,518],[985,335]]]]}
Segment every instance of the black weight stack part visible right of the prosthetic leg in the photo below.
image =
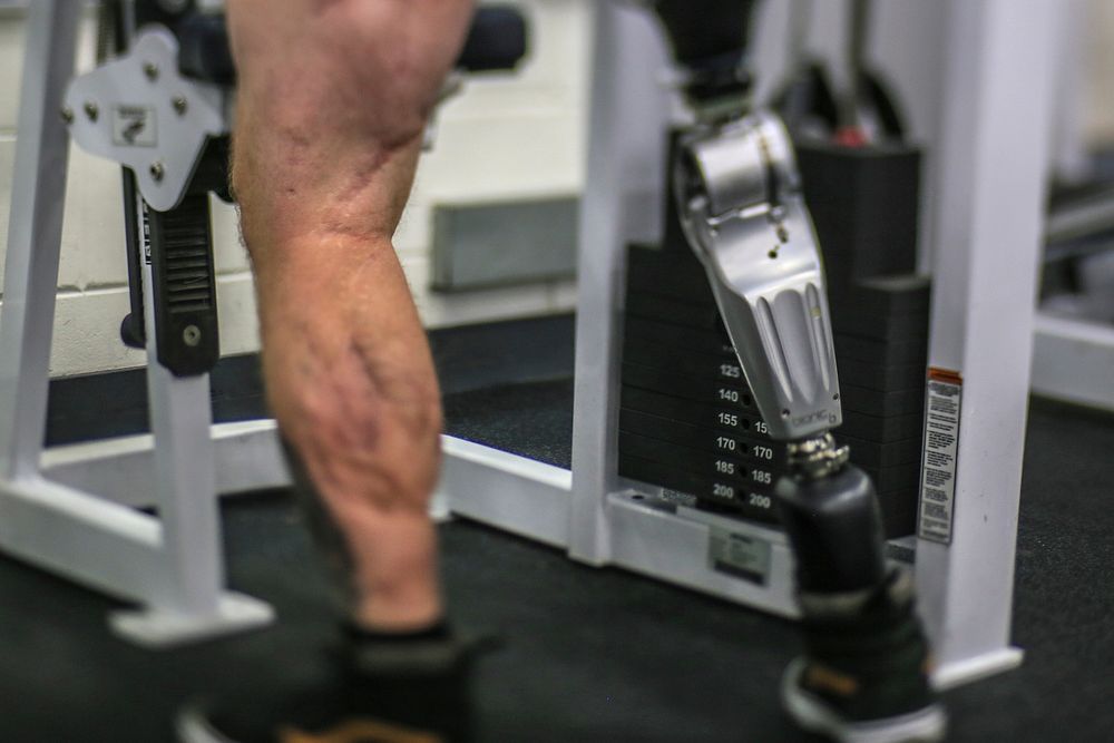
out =
{"type": "Polygon", "coordinates": [[[920,151],[905,145],[798,143],[824,255],[843,426],[870,475],[889,535],[917,520],[930,282],[917,265],[920,151]]]}

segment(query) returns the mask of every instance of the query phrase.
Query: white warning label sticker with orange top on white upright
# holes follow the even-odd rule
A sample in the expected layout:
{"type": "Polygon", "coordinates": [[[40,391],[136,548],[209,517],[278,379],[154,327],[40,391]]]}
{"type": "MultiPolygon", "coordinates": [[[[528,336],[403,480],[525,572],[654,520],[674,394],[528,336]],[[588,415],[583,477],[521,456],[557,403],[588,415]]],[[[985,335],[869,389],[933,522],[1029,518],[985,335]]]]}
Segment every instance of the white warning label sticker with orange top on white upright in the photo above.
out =
{"type": "Polygon", "coordinates": [[[922,539],[945,545],[951,544],[962,391],[964,380],[959,372],[936,368],[928,370],[917,532],[922,539]]]}

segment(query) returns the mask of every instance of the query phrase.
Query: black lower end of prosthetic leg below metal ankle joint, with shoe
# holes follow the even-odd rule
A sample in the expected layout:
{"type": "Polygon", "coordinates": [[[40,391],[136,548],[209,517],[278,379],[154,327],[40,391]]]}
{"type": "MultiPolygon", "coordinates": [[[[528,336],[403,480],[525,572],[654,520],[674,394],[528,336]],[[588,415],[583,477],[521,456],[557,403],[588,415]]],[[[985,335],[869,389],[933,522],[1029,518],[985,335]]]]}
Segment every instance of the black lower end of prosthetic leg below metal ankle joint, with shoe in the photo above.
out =
{"type": "Polygon", "coordinates": [[[889,726],[895,737],[879,741],[908,740],[911,730],[930,733],[912,740],[938,740],[942,713],[912,579],[886,565],[870,478],[846,463],[819,476],[798,471],[778,482],[776,496],[797,556],[805,646],[783,686],[790,714],[828,734],[862,723],[879,734],[878,725],[889,726]]]}

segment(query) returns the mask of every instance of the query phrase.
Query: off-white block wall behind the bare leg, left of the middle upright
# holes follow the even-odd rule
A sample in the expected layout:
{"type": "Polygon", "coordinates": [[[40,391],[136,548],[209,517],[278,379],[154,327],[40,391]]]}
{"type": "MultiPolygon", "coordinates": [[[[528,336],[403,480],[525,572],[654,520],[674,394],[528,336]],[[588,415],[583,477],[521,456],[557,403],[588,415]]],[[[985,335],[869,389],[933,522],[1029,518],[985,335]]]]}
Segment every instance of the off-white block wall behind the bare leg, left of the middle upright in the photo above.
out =
{"type": "MultiPolygon", "coordinates": [[[[430,326],[566,311],[571,282],[439,295],[428,290],[431,207],[521,197],[567,196],[583,180],[588,2],[520,0],[535,31],[518,76],[471,79],[443,106],[433,151],[421,163],[395,245],[422,317],[430,326]]],[[[0,10],[0,241],[8,233],[25,16],[0,10]]],[[[92,61],[86,23],[82,67],[92,61]]],[[[143,354],[119,341],[128,311],[119,168],[74,148],[62,236],[53,375],[136,366],[143,354]]],[[[222,351],[258,348],[255,303],[235,212],[217,203],[222,351]]]]}

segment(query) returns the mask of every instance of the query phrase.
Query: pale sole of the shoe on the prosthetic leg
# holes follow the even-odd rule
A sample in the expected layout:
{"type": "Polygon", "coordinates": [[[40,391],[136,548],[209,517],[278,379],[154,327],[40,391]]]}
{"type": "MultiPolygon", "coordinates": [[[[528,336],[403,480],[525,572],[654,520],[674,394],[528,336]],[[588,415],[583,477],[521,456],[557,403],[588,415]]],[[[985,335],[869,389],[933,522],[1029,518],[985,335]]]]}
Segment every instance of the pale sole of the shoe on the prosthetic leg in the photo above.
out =
{"type": "Polygon", "coordinates": [[[939,705],[885,720],[848,722],[823,700],[801,688],[804,667],[803,658],[789,665],[781,682],[781,698],[789,716],[810,733],[827,735],[840,743],[937,743],[944,740],[948,717],[939,705]]]}

